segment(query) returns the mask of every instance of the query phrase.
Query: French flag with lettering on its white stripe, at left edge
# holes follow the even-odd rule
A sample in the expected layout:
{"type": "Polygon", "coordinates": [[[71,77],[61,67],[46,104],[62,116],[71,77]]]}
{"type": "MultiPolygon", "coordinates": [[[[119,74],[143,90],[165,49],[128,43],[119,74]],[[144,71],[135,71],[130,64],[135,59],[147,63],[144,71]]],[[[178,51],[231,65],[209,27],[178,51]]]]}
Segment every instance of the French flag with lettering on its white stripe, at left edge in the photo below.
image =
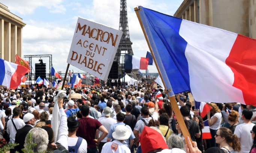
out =
{"type": "Polygon", "coordinates": [[[21,78],[28,72],[28,69],[0,58],[0,72],[0,85],[9,89],[16,89],[21,84],[21,78]]]}

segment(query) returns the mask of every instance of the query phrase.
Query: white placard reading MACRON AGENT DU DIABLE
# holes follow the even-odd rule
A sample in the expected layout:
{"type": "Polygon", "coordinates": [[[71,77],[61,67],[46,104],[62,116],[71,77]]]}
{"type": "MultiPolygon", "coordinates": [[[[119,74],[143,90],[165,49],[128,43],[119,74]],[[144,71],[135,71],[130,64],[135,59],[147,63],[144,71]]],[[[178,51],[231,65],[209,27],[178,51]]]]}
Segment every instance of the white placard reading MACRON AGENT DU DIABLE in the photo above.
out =
{"type": "Polygon", "coordinates": [[[122,31],[78,18],[67,62],[107,80],[122,31]]]}

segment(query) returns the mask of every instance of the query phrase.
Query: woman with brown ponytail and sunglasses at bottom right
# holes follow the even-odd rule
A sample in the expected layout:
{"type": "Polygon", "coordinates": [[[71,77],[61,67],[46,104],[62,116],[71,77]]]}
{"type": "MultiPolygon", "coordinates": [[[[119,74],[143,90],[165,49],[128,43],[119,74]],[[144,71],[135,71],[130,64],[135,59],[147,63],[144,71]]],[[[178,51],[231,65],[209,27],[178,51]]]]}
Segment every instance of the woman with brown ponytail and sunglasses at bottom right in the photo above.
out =
{"type": "Polygon", "coordinates": [[[214,136],[216,143],[227,153],[238,153],[241,150],[240,141],[228,128],[221,127],[214,136]]]}

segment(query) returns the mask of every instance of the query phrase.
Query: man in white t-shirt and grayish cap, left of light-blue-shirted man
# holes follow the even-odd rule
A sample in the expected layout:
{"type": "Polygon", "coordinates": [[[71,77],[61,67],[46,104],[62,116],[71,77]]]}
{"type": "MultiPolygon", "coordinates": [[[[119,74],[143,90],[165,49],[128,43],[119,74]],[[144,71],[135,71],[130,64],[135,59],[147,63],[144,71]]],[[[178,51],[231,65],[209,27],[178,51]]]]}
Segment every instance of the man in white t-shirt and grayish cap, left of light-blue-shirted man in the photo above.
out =
{"type": "MultiPolygon", "coordinates": [[[[116,120],[112,119],[110,117],[110,113],[111,110],[109,107],[105,107],[104,108],[104,117],[99,118],[99,122],[107,129],[107,131],[109,130],[111,125],[116,124],[116,120]]],[[[102,132],[100,132],[100,135],[102,134],[102,132]]],[[[107,143],[107,137],[105,137],[100,143],[99,143],[99,153],[101,153],[102,147],[103,145],[107,143]]]]}

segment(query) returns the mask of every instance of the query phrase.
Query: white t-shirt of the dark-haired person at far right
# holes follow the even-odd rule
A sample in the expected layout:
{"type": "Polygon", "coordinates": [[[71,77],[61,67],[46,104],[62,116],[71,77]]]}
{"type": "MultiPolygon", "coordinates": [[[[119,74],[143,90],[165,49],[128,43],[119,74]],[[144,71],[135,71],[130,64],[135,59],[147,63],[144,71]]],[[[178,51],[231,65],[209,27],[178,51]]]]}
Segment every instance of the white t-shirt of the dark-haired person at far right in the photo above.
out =
{"type": "Polygon", "coordinates": [[[251,138],[250,131],[255,124],[242,123],[236,126],[234,134],[240,138],[241,151],[240,153],[248,153],[253,145],[253,139],[251,138]]]}

